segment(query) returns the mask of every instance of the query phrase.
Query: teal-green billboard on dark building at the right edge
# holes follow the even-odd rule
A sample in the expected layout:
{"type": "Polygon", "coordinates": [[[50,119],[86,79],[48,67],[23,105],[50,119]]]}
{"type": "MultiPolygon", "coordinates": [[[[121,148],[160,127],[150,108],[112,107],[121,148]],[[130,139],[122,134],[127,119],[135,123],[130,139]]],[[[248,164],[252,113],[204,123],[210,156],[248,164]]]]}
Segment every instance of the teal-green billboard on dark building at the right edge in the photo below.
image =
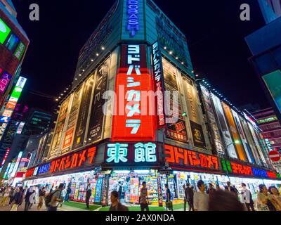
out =
{"type": "Polygon", "coordinates": [[[281,113],[281,70],[270,72],[268,75],[263,75],[262,78],[281,113]]]}

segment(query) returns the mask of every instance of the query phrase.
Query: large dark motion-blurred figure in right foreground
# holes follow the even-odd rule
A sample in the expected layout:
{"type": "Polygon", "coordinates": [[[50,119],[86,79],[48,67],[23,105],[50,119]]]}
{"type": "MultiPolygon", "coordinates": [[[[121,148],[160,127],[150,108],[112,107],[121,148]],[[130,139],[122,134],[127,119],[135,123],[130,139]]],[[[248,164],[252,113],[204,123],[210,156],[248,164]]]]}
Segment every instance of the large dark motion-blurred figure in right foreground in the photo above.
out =
{"type": "Polygon", "coordinates": [[[233,193],[215,191],[209,199],[209,211],[244,211],[244,207],[233,193]]]}

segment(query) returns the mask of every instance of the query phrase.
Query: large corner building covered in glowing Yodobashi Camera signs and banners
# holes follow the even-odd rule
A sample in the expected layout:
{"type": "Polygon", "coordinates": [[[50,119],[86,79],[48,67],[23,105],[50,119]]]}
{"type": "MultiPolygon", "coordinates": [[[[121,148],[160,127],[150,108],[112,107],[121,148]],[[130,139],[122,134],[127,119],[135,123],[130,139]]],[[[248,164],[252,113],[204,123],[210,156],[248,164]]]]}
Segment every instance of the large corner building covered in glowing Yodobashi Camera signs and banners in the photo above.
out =
{"type": "Polygon", "coordinates": [[[76,201],[91,188],[90,202],[108,205],[113,190],[138,203],[146,181],[162,205],[164,184],[179,202],[187,181],[281,184],[267,155],[256,124],[195,83],[176,25],[151,0],[120,0],[81,49],[48,160],[27,169],[25,184],[65,183],[76,201]]]}

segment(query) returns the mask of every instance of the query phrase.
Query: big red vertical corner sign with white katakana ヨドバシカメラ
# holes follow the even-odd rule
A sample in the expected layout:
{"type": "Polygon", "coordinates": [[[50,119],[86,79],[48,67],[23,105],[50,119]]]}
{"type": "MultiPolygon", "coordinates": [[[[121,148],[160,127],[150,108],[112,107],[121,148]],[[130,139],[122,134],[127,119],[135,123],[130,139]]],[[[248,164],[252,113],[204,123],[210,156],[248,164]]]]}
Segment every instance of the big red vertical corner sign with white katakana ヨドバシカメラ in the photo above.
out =
{"type": "Polygon", "coordinates": [[[120,68],[115,81],[117,99],[112,141],[155,139],[154,93],[146,58],[145,45],[122,45],[120,68]]]}

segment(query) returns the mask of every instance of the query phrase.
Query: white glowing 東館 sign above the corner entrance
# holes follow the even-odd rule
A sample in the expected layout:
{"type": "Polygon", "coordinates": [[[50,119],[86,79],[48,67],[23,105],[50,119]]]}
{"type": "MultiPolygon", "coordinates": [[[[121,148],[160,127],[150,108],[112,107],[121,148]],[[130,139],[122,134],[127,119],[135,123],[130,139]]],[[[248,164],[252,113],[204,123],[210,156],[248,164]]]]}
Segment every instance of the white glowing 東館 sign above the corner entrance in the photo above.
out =
{"type": "Polygon", "coordinates": [[[151,163],[157,162],[157,145],[155,143],[107,143],[105,162],[122,163],[151,163]]]}

